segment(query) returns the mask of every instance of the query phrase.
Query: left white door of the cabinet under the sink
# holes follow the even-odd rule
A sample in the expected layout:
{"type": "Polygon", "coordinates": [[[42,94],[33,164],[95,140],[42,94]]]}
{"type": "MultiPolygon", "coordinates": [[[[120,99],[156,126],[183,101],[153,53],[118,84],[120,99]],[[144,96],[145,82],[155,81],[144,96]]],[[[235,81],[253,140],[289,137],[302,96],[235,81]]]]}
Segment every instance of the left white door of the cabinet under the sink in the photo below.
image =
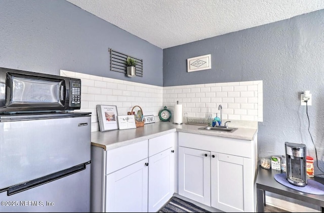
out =
{"type": "Polygon", "coordinates": [[[210,166],[210,152],[179,147],[179,194],[210,206],[210,166]]]}

